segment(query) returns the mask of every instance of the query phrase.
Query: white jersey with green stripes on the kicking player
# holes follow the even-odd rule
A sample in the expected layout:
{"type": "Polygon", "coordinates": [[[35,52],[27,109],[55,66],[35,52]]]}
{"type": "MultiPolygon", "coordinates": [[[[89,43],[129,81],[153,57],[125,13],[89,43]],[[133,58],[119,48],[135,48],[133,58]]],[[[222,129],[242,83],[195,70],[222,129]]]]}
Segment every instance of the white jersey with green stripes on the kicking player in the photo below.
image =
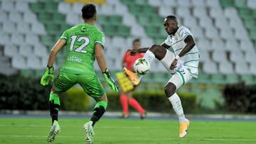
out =
{"type": "MultiPolygon", "coordinates": [[[[186,46],[184,40],[188,35],[192,35],[191,31],[189,31],[188,28],[181,26],[174,35],[168,35],[164,43],[173,48],[176,56],[186,46]]],[[[183,65],[187,67],[188,71],[191,72],[193,77],[198,77],[199,57],[199,51],[196,45],[192,48],[192,50],[181,57],[183,65]]]]}

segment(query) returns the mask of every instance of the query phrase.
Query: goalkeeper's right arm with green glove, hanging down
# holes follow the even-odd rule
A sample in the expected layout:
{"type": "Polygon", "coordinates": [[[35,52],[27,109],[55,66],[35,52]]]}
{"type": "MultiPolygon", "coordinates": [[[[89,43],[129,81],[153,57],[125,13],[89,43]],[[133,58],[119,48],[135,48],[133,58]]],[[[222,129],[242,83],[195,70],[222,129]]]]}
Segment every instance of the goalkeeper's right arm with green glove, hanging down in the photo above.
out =
{"type": "Polygon", "coordinates": [[[104,75],[107,84],[109,84],[111,89],[113,89],[115,92],[119,92],[119,87],[117,86],[117,84],[114,83],[114,79],[112,79],[110,72],[107,69],[106,60],[103,55],[102,49],[102,45],[95,45],[95,57],[97,63],[100,67],[100,70],[102,70],[102,74],[104,75]]]}

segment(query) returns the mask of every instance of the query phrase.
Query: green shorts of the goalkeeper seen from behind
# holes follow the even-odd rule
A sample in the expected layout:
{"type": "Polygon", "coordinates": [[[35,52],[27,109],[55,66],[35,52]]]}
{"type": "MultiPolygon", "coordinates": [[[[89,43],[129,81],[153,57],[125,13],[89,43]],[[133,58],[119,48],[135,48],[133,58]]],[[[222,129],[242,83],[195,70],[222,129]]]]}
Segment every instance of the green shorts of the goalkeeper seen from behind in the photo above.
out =
{"type": "Polygon", "coordinates": [[[69,74],[60,72],[53,82],[55,92],[66,92],[75,84],[80,84],[89,96],[100,97],[105,94],[96,74],[69,74]]]}

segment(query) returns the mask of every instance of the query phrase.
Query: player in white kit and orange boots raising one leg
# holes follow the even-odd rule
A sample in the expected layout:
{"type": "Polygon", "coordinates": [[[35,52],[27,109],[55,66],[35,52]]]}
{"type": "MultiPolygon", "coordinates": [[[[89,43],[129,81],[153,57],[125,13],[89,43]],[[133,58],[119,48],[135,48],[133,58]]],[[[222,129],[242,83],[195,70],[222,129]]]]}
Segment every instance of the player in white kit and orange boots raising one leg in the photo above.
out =
{"type": "MultiPolygon", "coordinates": [[[[173,74],[169,82],[164,87],[164,92],[174,108],[180,123],[179,138],[183,138],[189,126],[189,121],[185,118],[181,106],[181,99],[176,94],[176,90],[181,85],[186,84],[192,77],[198,77],[199,52],[196,48],[193,35],[188,28],[178,26],[176,16],[167,16],[164,19],[164,28],[168,37],[161,45],[152,45],[151,48],[140,48],[128,50],[130,55],[139,52],[146,52],[144,58],[150,63],[154,58],[159,60],[166,69],[173,74]],[[167,50],[173,48],[174,53],[167,50]]],[[[124,67],[124,72],[134,85],[138,85],[141,75],[131,72],[124,67]]]]}

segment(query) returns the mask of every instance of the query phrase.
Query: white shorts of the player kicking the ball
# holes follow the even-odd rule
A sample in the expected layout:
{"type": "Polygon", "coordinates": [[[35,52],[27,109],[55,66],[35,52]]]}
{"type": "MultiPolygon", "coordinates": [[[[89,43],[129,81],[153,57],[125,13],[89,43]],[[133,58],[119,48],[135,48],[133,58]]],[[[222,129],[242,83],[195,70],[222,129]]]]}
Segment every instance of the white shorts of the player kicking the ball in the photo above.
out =
{"type": "Polygon", "coordinates": [[[167,50],[165,57],[160,61],[166,70],[173,74],[171,79],[168,82],[171,82],[176,85],[176,89],[181,87],[181,85],[186,84],[190,79],[192,79],[193,74],[188,71],[188,67],[183,65],[182,61],[178,61],[177,67],[174,70],[171,70],[171,63],[174,61],[174,53],[167,50]]]}

